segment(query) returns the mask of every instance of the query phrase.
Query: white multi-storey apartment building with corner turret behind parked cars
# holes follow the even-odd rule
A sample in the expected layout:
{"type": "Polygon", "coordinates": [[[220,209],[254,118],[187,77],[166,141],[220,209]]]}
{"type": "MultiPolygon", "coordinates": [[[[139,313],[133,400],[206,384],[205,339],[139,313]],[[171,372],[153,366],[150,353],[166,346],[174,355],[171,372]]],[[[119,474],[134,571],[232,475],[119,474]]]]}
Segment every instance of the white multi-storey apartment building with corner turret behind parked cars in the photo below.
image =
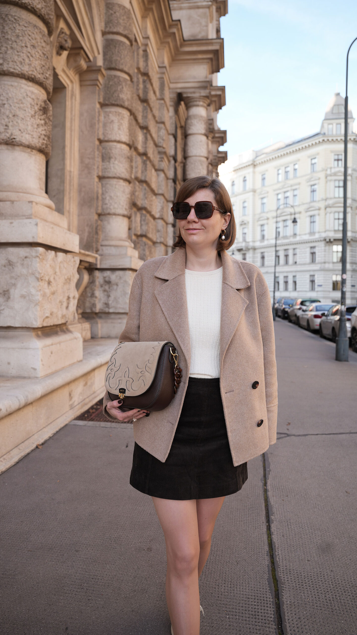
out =
{"type": "MultiPolygon", "coordinates": [[[[346,304],[357,302],[357,134],[348,112],[346,304]]],[[[231,195],[237,239],[230,253],[260,267],[273,297],[339,302],[344,178],[344,98],[330,100],[320,132],[228,159],[219,177],[231,195]],[[293,218],[297,224],[293,225],[293,218]]]]}

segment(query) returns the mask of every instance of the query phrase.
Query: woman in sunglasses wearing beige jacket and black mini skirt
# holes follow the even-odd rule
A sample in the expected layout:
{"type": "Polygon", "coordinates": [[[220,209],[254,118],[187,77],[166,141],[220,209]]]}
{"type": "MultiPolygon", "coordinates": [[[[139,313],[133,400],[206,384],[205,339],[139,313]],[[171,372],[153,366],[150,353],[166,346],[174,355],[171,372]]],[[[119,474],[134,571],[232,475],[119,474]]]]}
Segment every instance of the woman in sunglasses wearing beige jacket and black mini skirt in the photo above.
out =
{"type": "Polygon", "coordinates": [[[217,178],[183,184],[172,207],[176,251],[152,258],[134,277],[120,340],[172,342],[182,382],[171,404],[134,421],[130,483],[152,496],[164,531],[166,598],[174,635],[198,635],[198,577],[226,495],[242,488],[247,460],[276,441],[276,364],[268,285],[249,262],[231,258],[230,197],[217,178]]]}

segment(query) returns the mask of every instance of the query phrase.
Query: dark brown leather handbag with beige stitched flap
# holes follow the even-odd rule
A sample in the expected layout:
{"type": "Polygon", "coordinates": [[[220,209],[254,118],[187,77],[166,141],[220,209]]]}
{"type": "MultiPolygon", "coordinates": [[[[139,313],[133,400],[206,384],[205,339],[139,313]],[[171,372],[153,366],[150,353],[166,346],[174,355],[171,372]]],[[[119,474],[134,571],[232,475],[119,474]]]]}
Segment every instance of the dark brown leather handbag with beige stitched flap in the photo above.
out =
{"type": "Polygon", "coordinates": [[[119,342],[105,373],[110,399],[122,399],[123,411],[164,410],[181,383],[178,359],[171,342],[119,342]]]}

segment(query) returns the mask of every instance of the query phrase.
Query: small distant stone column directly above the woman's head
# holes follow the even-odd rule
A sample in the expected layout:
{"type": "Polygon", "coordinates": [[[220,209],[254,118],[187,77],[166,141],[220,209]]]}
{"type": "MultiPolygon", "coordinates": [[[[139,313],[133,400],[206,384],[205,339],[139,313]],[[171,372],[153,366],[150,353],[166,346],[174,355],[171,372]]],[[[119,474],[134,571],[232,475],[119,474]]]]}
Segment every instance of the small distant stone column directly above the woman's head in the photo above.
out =
{"type": "Polygon", "coordinates": [[[186,97],[185,180],[207,174],[208,121],[207,97],[186,97]]]}

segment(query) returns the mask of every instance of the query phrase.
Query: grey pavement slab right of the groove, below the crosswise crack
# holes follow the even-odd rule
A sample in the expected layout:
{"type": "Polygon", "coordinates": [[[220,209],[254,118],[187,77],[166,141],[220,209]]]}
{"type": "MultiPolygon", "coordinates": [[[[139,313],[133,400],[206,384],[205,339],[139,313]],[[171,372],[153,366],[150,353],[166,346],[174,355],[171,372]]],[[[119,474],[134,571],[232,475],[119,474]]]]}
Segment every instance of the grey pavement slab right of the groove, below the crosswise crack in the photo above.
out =
{"type": "Polygon", "coordinates": [[[356,434],[269,448],[284,635],[357,634],[356,453],[356,434]]]}

